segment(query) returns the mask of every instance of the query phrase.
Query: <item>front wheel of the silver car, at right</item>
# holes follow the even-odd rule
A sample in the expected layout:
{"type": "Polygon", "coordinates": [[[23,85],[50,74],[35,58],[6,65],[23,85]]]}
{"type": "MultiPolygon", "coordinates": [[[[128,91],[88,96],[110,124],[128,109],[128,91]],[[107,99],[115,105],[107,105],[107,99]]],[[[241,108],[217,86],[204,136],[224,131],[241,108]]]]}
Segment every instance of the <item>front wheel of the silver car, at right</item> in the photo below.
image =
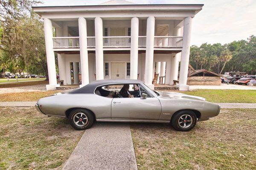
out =
{"type": "Polygon", "coordinates": [[[177,131],[192,130],[195,127],[196,122],[197,122],[197,117],[195,115],[195,112],[193,112],[192,110],[182,110],[180,112],[177,112],[175,113],[175,115],[172,116],[172,120],[171,120],[172,127],[174,127],[175,130],[177,131]],[[189,126],[187,122],[190,122],[189,126]],[[185,124],[185,127],[183,127],[184,124],[185,124]]]}

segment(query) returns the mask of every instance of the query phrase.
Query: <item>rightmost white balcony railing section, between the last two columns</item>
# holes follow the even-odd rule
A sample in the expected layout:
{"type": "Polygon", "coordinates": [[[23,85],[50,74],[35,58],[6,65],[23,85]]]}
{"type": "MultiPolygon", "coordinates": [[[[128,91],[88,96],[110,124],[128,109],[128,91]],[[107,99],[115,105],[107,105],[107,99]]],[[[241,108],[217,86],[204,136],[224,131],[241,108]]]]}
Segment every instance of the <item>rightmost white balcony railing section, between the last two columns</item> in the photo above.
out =
{"type": "Polygon", "coordinates": [[[155,36],[154,47],[182,47],[183,37],[155,36]]]}

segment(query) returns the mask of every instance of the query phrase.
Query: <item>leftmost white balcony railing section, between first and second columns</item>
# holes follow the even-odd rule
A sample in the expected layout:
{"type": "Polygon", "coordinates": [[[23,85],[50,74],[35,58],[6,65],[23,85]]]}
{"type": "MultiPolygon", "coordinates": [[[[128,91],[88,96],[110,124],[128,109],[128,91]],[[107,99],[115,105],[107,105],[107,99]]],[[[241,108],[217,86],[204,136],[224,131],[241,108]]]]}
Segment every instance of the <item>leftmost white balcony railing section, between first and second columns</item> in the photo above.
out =
{"type": "Polygon", "coordinates": [[[79,48],[79,37],[53,37],[53,48],[79,48]]]}

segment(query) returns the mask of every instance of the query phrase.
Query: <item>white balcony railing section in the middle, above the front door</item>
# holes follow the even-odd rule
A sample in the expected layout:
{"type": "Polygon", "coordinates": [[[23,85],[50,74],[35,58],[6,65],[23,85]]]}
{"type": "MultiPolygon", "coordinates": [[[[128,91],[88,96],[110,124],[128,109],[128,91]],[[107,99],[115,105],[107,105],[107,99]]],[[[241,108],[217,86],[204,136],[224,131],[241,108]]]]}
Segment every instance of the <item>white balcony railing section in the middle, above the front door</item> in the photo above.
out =
{"type": "Polygon", "coordinates": [[[103,37],[103,47],[130,47],[130,36],[103,37]]]}

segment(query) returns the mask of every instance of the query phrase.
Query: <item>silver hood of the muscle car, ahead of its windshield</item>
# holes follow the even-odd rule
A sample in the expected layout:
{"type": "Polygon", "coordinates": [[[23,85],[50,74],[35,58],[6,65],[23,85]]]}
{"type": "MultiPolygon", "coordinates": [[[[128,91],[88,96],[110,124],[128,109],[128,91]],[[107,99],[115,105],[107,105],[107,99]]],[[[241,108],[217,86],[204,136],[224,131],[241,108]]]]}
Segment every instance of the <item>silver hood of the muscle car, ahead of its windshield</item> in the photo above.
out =
{"type": "Polygon", "coordinates": [[[179,92],[158,92],[160,97],[163,98],[186,98],[186,99],[191,99],[191,100],[200,100],[200,101],[206,101],[205,98],[199,97],[199,96],[194,96],[194,95],[186,95],[183,93],[179,92]]]}

